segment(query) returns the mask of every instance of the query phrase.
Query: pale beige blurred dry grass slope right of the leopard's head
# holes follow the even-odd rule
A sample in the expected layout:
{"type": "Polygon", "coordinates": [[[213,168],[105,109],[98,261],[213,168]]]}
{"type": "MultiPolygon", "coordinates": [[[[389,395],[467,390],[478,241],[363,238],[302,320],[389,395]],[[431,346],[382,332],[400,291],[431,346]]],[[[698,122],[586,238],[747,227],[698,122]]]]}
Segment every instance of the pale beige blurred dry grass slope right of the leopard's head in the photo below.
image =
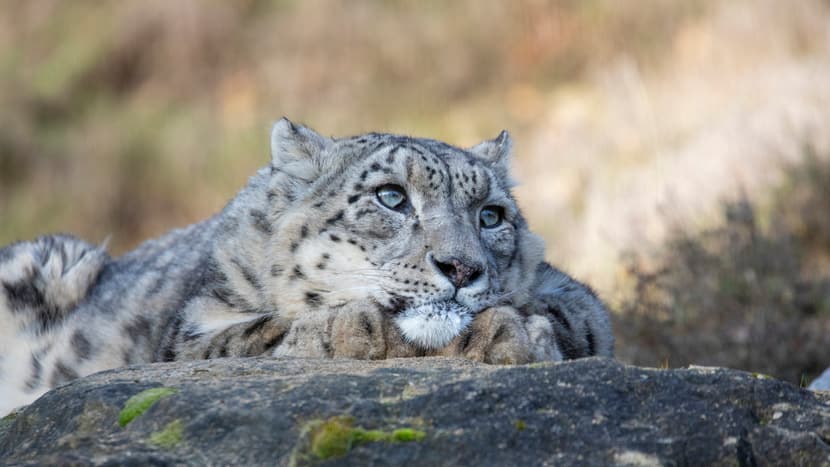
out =
{"type": "Polygon", "coordinates": [[[623,52],[542,94],[520,199],[551,259],[607,293],[621,251],[666,237],[666,212],[711,223],[719,200],[779,183],[805,141],[830,154],[830,9],[780,6],[720,2],[658,63],[623,52]]]}

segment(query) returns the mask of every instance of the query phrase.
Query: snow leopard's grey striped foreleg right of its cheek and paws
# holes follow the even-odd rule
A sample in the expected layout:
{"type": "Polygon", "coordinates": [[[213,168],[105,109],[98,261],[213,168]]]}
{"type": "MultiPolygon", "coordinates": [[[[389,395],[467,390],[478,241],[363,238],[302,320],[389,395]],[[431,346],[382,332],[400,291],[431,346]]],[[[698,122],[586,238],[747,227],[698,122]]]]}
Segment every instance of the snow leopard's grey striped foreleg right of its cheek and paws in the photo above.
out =
{"type": "Polygon", "coordinates": [[[614,356],[608,311],[590,287],[542,263],[533,290],[533,299],[523,311],[547,318],[565,359],[614,356]]]}

